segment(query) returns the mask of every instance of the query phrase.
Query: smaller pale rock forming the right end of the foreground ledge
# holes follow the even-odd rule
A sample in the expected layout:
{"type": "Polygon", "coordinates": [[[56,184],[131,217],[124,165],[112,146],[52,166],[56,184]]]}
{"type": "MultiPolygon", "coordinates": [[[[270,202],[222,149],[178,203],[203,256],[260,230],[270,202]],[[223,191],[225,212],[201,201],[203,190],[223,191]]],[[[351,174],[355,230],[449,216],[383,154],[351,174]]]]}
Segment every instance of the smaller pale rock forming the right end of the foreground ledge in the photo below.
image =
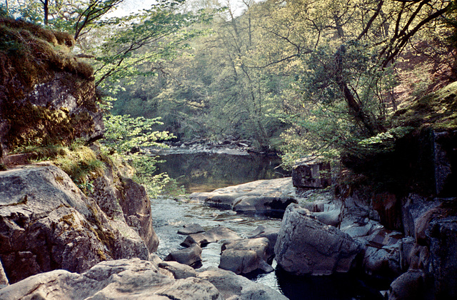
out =
{"type": "Polygon", "coordinates": [[[224,299],[256,299],[256,300],[286,300],[283,296],[268,286],[257,284],[246,277],[238,276],[231,271],[210,267],[199,271],[199,278],[214,284],[224,299]]]}

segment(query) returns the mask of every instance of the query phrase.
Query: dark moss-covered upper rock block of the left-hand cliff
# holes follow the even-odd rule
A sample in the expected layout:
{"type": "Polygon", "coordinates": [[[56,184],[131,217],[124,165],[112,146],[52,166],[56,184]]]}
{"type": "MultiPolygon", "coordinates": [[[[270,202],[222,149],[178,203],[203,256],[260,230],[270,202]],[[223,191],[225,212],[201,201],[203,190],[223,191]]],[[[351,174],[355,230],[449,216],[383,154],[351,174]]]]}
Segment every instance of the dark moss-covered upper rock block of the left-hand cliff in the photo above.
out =
{"type": "Polygon", "coordinates": [[[19,145],[101,137],[93,70],[69,34],[0,19],[0,156],[19,145]]]}

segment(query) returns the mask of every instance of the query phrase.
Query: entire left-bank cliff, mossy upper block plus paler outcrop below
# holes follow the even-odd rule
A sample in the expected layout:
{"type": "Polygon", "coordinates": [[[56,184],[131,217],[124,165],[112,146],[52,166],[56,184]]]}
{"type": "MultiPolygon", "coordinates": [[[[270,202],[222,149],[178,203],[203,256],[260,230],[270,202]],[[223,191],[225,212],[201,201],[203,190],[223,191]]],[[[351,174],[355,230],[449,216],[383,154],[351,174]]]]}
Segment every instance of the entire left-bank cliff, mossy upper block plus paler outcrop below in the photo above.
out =
{"type": "Polygon", "coordinates": [[[90,145],[104,130],[93,71],[71,55],[73,44],[69,34],[0,19],[0,275],[9,283],[110,259],[149,259],[159,244],[144,187],[94,144],[79,154],[65,147],[77,138],[90,145]],[[69,165],[9,164],[7,154],[24,146],[59,149],[55,156],[69,165]],[[90,163],[84,153],[96,169],[77,177],[90,163]]]}

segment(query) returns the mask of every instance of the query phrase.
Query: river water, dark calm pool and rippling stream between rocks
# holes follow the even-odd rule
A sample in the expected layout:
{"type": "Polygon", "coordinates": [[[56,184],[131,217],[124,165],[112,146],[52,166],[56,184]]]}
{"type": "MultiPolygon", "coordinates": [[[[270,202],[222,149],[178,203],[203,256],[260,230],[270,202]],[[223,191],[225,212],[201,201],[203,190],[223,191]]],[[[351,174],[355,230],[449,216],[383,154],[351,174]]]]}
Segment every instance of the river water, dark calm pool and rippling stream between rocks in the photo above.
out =
{"type": "MultiPolygon", "coordinates": [[[[232,156],[226,154],[173,154],[161,157],[166,163],[159,171],[166,171],[187,192],[212,191],[214,189],[242,184],[259,179],[288,176],[278,168],[277,158],[266,156],[232,156]]],[[[221,211],[184,199],[161,197],[151,199],[154,230],[160,244],[157,254],[163,259],[180,246],[186,236],[176,232],[184,225],[197,223],[204,229],[226,226],[242,237],[246,237],[257,226],[279,228],[281,219],[265,216],[245,216],[233,211],[221,211]]],[[[221,244],[204,247],[202,267],[219,266],[221,244]]],[[[268,274],[248,274],[248,278],[276,289],[291,300],[295,299],[381,299],[381,294],[356,275],[334,276],[290,276],[276,266],[268,274]]]]}

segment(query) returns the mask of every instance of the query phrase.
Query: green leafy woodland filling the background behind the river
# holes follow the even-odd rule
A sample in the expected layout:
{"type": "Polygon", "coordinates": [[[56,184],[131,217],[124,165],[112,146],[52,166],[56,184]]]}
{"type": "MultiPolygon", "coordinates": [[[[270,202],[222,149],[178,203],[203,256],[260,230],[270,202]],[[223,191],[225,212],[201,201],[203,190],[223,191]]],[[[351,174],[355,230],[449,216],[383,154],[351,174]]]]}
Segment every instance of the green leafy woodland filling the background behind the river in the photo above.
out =
{"type": "Polygon", "coordinates": [[[286,165],[319,156],[357,169],[424,124],[456,125],[453,101],[415,104],[456,81],[456,1],[163,0],[116,14],[127,2],[1,6],[72,36],[72,54],[94,69],[104,144],[119,154],[242,139],[286,165]]]}

